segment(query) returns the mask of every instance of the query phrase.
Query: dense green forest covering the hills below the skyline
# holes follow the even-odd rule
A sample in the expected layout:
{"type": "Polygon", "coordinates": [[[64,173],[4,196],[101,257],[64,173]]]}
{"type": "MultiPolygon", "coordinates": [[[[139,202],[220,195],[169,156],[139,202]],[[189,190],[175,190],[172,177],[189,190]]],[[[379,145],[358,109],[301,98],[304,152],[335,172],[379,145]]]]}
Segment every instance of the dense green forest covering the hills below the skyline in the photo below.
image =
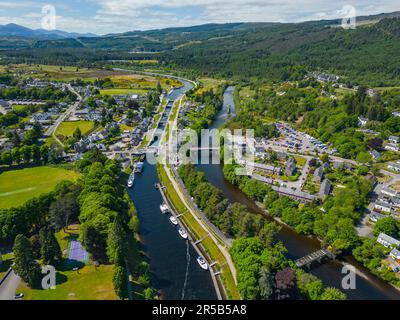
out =
{"type": "Polygon", "coordinates": [[[4,51],[2,63],[110,66],[132,59],[155,59],[159,68],[171,72],[275,81],[285,80],[293,67],[302,66],[339,74],[354,84],[399,83],[400,18],[366,23],[355,30],[337,24],[208,25],[82,38],[79,42],[41,41],[36,47],[4,51]]]}

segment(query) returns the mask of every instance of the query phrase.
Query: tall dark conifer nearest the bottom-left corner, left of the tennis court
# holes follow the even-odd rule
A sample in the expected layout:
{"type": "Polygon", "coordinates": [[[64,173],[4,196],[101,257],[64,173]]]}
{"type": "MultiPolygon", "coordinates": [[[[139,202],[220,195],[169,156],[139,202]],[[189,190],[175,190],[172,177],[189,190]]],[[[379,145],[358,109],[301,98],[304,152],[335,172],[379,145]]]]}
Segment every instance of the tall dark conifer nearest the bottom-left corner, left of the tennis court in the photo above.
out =
{"type": "Polygon", "coordinates": [[[22,234],[16,236],[13,246],[13,269],[31,288],[38,286],[41,278],[40,265],[36,262],[29,240],[22,234]]]}

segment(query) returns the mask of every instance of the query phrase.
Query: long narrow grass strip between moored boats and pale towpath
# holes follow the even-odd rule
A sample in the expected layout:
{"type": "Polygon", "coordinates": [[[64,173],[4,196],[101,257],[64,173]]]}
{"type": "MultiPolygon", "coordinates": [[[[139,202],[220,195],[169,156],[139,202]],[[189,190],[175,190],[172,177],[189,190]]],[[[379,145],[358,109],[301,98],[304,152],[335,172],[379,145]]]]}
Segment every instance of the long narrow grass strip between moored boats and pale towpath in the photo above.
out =
{"type": "Polygon", "coordinates": [[[188,212],[185,204],[182,202],[171,181],[169,180],[163,166],[158,166],[158,174],[161,182],[166,187],[165,190],[168,199],[171,201],[177,212],[179,214],[183,214],[181,216],[181,219],[184,224],[188,227],[188,229],[196,237],[196,239],[204,239],[201,242],[204,249],[213,261],[218,261],[218,266],[221,269],[220,277],[225,285],[229,298],[234,300],[240,299],[235,280],[233,279],[231,270],[229,269],[229,265],[226,263],[225,256],[219,250],[214,241],[208,236],[208,232],[188,212]]]}

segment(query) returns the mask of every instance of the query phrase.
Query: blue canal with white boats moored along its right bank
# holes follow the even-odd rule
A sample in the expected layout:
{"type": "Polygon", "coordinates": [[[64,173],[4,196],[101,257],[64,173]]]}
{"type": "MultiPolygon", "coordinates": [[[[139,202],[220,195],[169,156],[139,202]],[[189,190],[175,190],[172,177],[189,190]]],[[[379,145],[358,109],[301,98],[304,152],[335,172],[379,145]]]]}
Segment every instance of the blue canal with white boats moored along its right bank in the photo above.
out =
{"type": "MultiPolygon", "coordinates": [[[[165,129],[173,101],[192,87],[185,81],[182,88],[168,95],[170,102],[158,129],[165,129]]],[[[160,138],[156,138],[153,145],[159,141],[160,138]]],[[[143,172],[136,175],[134,187],[129,190],[137,208],[143,251],[149,260],[156,288],[162,299],[167,300],[217,299],[210,273],[202,270],[196,262],[196,251],[180,237],[168,216],[160,212],[163,199],[154,188],[156,182],[159,182],[156,167],[146,163],[143,172]]]]}

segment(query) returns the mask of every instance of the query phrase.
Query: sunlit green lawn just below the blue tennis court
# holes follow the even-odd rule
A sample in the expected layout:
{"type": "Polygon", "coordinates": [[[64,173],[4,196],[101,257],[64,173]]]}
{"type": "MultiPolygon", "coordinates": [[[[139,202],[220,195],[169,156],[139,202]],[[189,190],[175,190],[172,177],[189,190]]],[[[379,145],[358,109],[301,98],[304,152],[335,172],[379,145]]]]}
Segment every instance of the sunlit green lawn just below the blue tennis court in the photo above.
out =
{"type": "Polygon", "coordinates": [[[87,265],[79,271],[58,271],[54,290],[34,290],[22,283],[17,292],[25,300],[116,300],[112,275],[112,265],[87,265]]]}

